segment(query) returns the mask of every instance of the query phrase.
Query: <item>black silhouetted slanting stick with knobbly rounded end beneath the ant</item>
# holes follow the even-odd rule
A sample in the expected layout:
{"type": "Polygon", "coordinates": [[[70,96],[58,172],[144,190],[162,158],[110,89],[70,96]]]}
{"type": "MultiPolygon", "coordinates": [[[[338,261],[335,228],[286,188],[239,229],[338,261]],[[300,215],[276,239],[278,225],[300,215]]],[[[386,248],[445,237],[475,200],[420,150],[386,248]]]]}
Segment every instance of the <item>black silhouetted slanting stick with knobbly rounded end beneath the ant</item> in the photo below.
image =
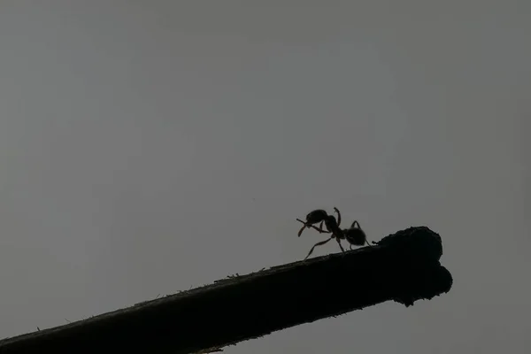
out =
{"type": "Polygon", "coordinates": [[[0,341],[0,353],[192,353],[394,300],[448,292],[441,237],[410,227],[372,247],[211,285],[0,341]]]}

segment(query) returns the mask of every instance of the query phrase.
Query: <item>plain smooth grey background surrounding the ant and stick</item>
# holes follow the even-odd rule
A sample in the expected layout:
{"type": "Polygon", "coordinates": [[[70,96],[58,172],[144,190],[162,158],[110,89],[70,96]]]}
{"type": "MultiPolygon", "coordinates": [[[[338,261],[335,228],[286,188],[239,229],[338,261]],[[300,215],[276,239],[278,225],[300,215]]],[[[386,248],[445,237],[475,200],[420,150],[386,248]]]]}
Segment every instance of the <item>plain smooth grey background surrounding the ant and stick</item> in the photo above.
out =
{"type": "Polygon", "coordinates": [[[227,353],[526,352],[530,30],[527,0],[1,1],[0,337],[299,260],[337,206],[440,233],[453,289],[227,353]]]}

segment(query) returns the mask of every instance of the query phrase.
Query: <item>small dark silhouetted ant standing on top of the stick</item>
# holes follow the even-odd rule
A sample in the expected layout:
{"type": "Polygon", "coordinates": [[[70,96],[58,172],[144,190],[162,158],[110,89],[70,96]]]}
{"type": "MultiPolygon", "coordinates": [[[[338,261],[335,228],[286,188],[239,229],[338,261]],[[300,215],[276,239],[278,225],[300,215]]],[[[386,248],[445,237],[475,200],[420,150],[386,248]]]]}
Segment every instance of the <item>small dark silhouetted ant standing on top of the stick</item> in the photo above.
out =
{"type": "Polygon", "coordinates": [[[304,258],[304,260],[310,257],[315,247],[321,246],[334,238],[335,241],[337,241],[337,244],[339,244],[339,248],[341,248],[343,252],[345,250],[342,248],[341,240],[347,240],[350,243],[350,250],[352,250],[352,245],[363,246],[364,244],[367,244],[370,246],[369,242],[367,242],[366,233],[359,226],[359,222],[357,220],[354,220],[350,228],[341,229],[339,227],[341,225],[341,212],[339,212],[337,208],[334,208],[334,211],[337,212],[337,220],[335,219],[334,215],[328,215],[328,213],[322,209],[314,210],[313,212],[308,213],[308,215],[306,215],[306,221],[296,219],[304,224],[304,226],[298,232],[299,237],[302,235],[304,228],[306,227],[312,227],[316,229],[319,231],[319,234],[332,234],[329,239],[315,243],[312,247],[312,250],[308,252],[308,255],[304,258]],[[320,222],[319,227],[313,225],[317,224],[318,222],[320,222]],[[323,230],[323,223],[327,226],[327,231],[323,230]]]}

